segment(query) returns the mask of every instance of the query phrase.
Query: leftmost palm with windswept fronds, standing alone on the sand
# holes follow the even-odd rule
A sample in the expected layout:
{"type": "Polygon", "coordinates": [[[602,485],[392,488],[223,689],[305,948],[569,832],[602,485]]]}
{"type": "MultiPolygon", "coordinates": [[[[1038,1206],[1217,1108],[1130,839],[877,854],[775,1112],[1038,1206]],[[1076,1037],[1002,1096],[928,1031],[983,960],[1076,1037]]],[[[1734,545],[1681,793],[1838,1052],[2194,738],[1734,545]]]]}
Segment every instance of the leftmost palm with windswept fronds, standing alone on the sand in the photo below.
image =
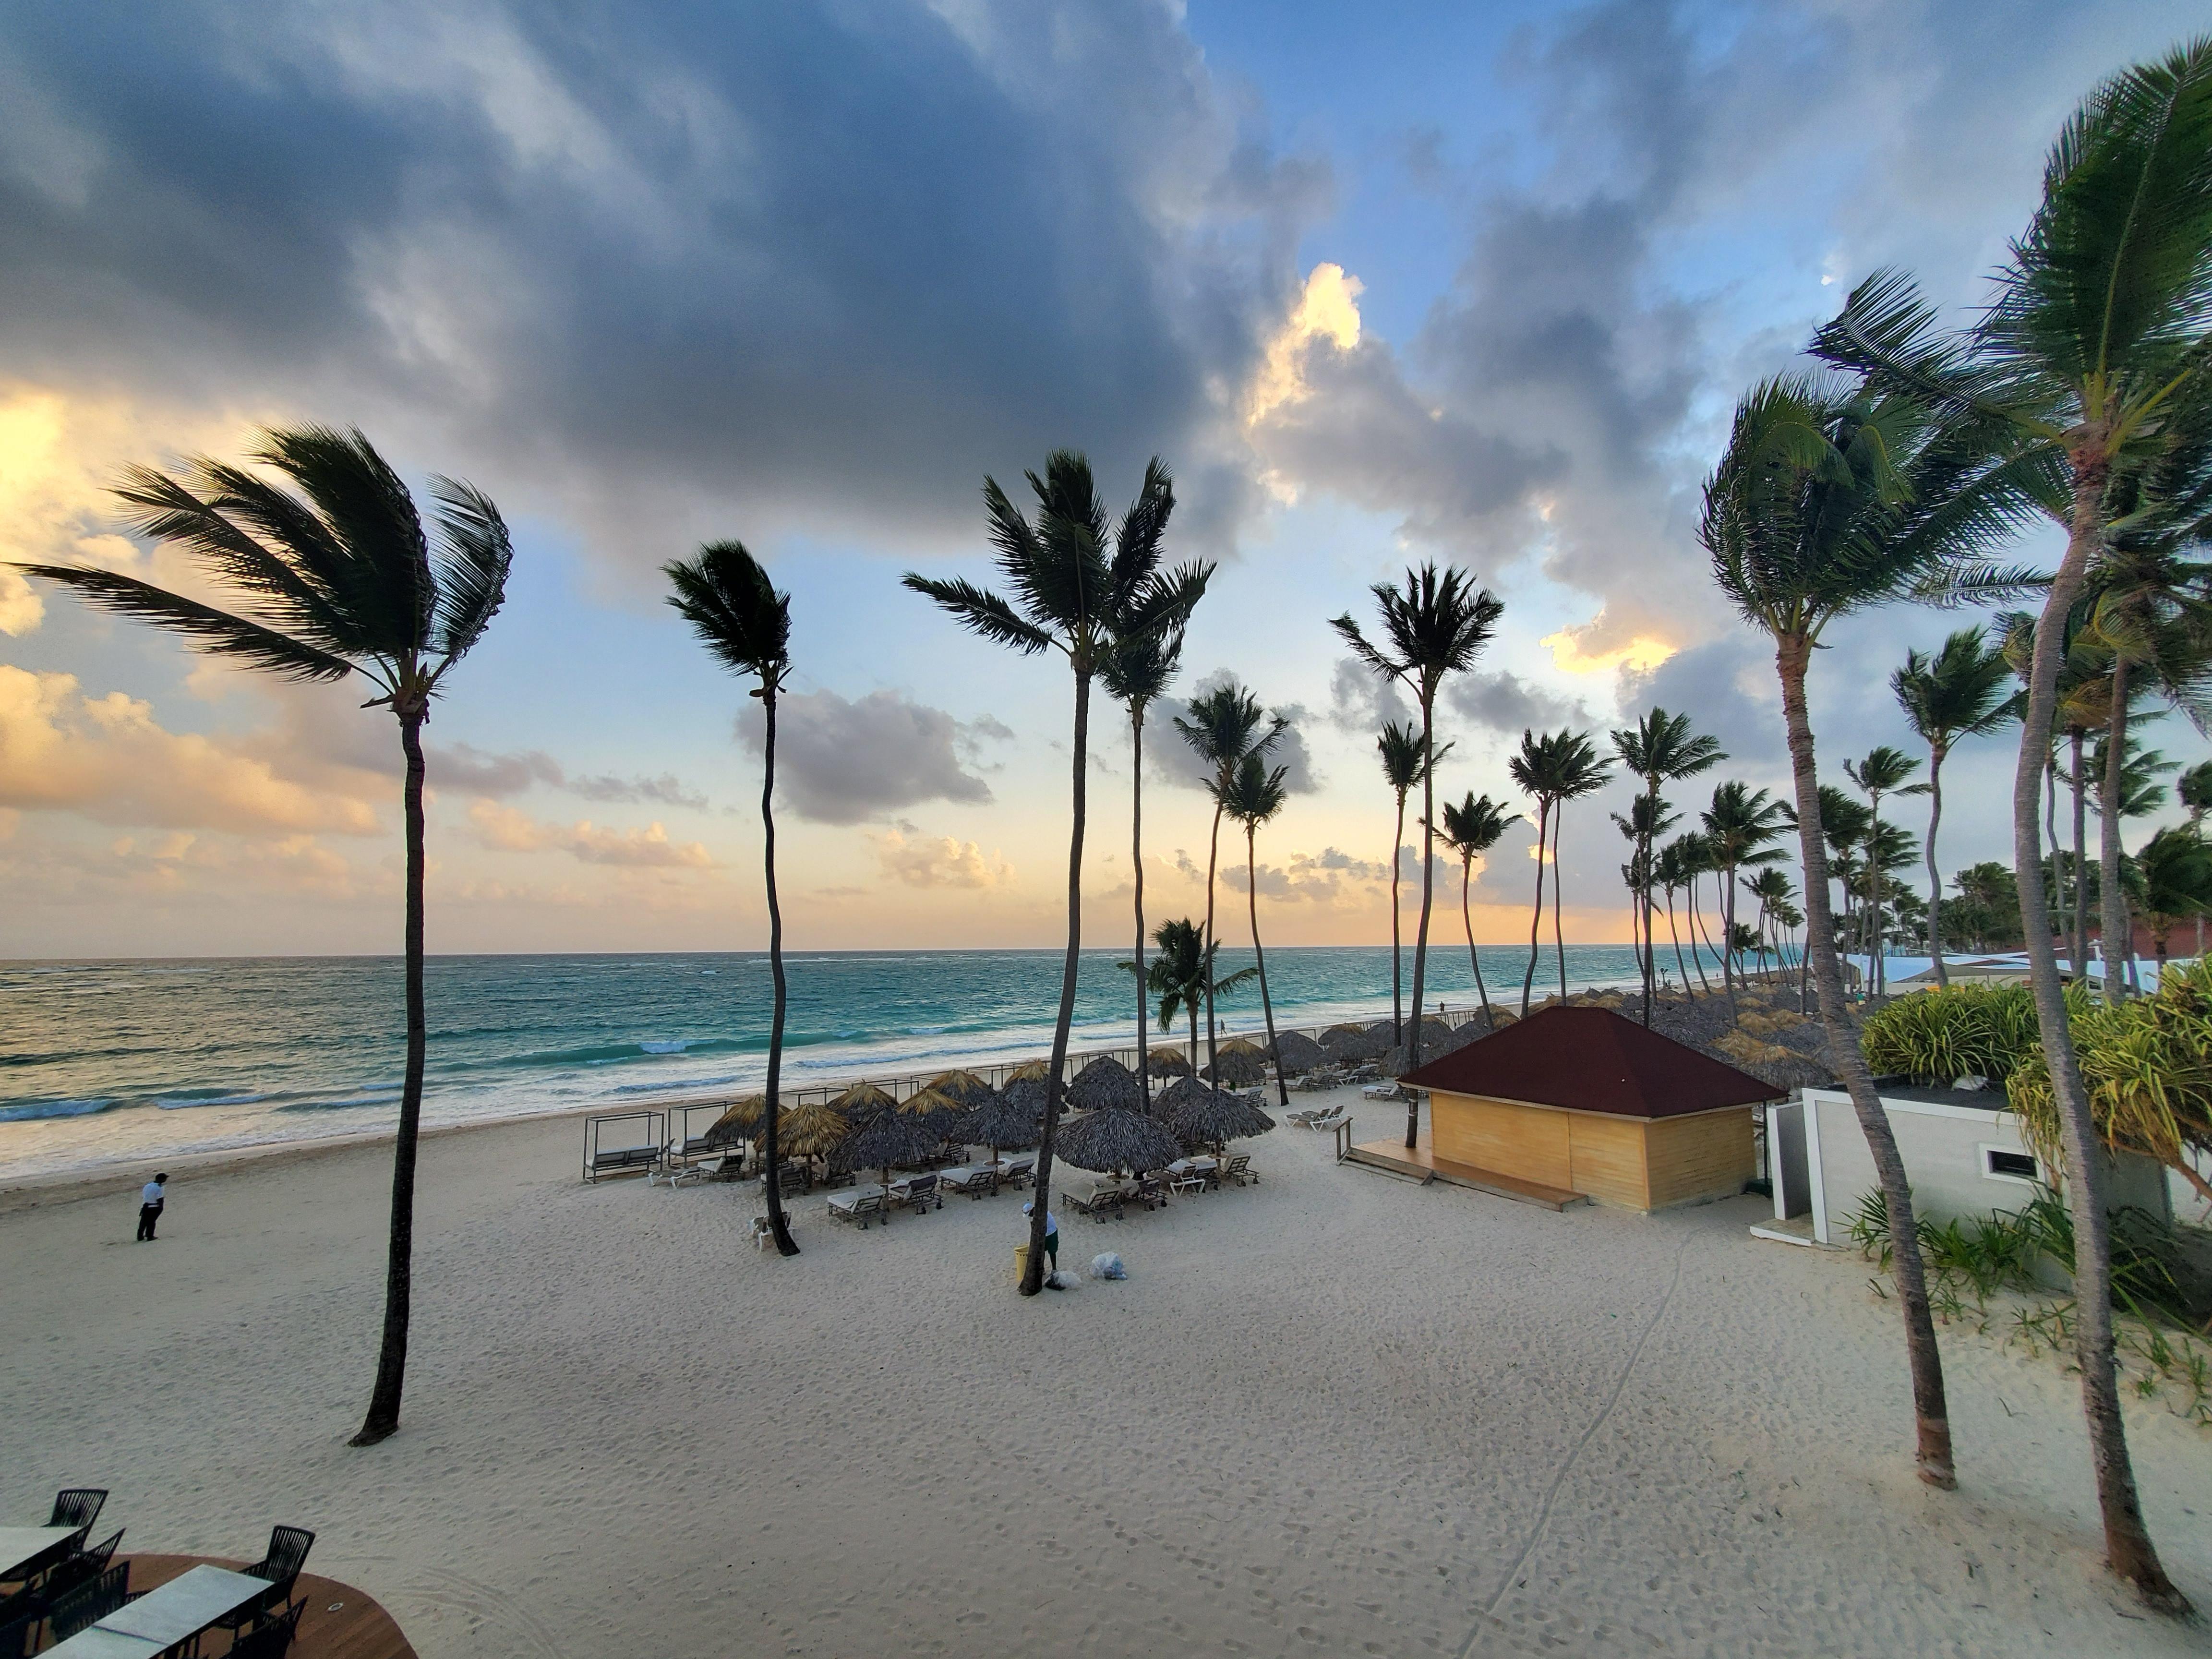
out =
{"type": "Polygon", "coordinates": [[[385,1332],[369,1411],[354,1436],[372,1447],[400,1427],[407,1318],[414,1292],[414,1172],[422,1126],[429,1015],[422,1000],[422,721],[445,677],[507,597],[513,549],[500,509],[473,484],[431,480],[436,555],[407,484],[369,440],[330,427],[261,434],[252,460],[299,487],[195,456],[181,473],[131,467],[117,495],[139,535],[190,553],[239,613],[186,599],[137,577],[71,564],[24,564],[106,611],[184,635],[199,650],[283,679],[363,675],[389,708],[407,757],[407,1071],[392,1150],[392,1237],[385,1261],[385,1332]],[[305,500],[303,500],[305,498],[305,500]]]}

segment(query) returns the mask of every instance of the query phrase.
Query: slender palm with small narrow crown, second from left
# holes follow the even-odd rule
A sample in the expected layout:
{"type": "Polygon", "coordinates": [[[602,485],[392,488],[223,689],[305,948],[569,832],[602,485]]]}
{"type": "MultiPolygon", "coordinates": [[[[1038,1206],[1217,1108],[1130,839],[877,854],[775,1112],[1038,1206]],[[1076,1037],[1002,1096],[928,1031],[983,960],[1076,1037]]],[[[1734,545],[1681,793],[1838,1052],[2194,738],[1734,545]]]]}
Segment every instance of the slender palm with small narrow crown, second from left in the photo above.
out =
{"type": "MultiPolygon", "coordinates": [[[[792,595],[776,593],[761,562],[743,542],[708,542],[688,562],[664,564],[675,588],[675,606],[708,653],[723,668],[759,679],[748,697],[761,699],[761,869],[768,887],[768,1099],[783,1099],[783,905],[776,898],[776,692],[792,677],[792,595]]],[[[796,1256],[792,1223],[783,1214],[776,1179],[776,1113],[761,1113],[761,1192],[768,1197],[768,1230],[779,1256],[796,1256]]]]}

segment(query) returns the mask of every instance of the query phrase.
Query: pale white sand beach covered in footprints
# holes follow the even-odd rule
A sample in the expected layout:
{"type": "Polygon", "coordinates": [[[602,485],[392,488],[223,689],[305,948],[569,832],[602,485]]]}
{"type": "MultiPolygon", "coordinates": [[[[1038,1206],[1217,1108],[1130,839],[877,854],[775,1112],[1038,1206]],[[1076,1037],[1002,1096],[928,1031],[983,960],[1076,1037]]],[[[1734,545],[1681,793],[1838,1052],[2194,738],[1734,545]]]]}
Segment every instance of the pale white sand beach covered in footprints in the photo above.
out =
{"type": "MultiPolygon", "coordinates": [[[[1402,1124],[1369,1104],[1363,1133],[1402,1124]]],[[[376,1352],[385,1146],[0,1214],[0,1517],[113,1486],[126,1548],[270,1522],[425,1659],[529,1655],[2181,1655],[2099,1571],[2073,1378],[1947,1334],[1960,1491],[1920,1486],[1891,1305],[1756,1201],[1546,1210],[1250,1146],[1254,1188],[1064,1259],[1020,1206],[885,1230],[577,1181],[573,1124],[425,1144],[405,1427],[376,1352]]],[[[2212,1436],[2130,1405],[2212,1606],[2212,1436]]]]}

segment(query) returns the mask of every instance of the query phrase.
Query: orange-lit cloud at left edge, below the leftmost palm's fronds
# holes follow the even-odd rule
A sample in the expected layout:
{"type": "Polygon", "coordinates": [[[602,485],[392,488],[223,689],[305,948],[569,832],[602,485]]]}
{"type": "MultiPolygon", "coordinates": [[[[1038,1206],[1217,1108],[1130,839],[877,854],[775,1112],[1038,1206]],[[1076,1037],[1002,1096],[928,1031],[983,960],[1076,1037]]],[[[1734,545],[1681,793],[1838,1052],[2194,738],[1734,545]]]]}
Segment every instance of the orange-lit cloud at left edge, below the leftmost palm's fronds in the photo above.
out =
{"type": "Polygon", "coordinates": [[[170,732],[124,692],[84,697],[73,675],[0,664],[4,807],[250,836],[378,832],[367,801],[283,776],[252,750],[254,739],[170,732]]]}

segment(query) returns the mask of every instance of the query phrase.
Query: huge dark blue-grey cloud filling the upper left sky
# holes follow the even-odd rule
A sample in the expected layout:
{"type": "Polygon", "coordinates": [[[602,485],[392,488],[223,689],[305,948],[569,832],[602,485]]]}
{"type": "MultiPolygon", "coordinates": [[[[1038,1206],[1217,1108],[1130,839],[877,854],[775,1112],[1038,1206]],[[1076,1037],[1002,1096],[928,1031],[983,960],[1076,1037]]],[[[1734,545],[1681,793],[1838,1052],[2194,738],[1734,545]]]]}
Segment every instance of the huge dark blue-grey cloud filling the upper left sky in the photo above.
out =
{"type": "Polygon", "coordinates": [[[358,418],[608,551],[964,533],[1048,442],[1219,538],[1329,190],[1144,0],[15,7],[0,100],[13,374],[358,418]]]}

